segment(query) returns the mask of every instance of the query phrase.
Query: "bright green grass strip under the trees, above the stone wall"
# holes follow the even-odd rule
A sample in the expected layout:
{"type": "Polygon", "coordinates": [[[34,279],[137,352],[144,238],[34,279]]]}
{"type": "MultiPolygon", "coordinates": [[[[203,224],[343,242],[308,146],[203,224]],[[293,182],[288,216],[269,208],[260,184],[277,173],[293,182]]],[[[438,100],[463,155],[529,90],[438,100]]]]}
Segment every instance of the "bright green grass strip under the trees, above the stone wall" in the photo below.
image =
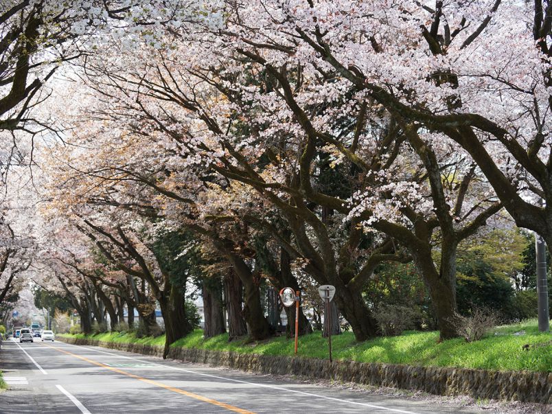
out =
{"type": "MultiPolygon", "coordinates": [[[[71,336],[71,335],[67,335],[71,336]]],[[[76,335],[84,338],[84,335],[76,335]]],[[[74,336],[73,336],[74,337],[74,336]]],[[[164,336],[157,338],[136,338],[133,334],[97,334],[88,336],[100,341],[119,343],[145,343],[163,345],[164,336]]],[[[358,343],[352,332],[332,336],[332,354],[336,360],[355,360],[363,363],[391,363],[434,367],[459,367],[492,369],[498,371],[552,371],[552,334],[540,333],[536,321],[497,327],[481,341],[465,343],[461,338],[438,342],[439,332],[404,332],[401,336],[376,338],[358,343]],[[524,335],[514,332],[525,330],[524,335]],[[523,345],[544,344],[529,347],[523,345]]],[[[228,335],[222,334],[207,340],[203,331],[195,330],[181,338],[173,347],[233,351],[260,355],[293,355],[293,339],[284,336],[258,343],[246,339],[228,342],[228,335]]],[[[327,339],[320,332],[299,338],[299,356],[328,358],[327,339]]]]}

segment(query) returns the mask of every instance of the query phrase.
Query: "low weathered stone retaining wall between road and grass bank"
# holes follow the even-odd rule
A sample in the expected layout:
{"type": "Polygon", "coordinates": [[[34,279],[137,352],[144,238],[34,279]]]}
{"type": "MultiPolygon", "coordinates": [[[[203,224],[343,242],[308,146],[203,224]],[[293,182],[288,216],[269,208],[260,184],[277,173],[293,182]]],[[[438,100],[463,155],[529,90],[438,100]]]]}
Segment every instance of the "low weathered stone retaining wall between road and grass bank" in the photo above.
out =
{"type": "MultiPolygon", "coordinates": [[[[162,356],[163,347],[58,337],[76,345],[96,345],[137,354],[162,356]]],[[[486,371],[441,367],[413,367],[356,363],[315,358],[262,356],[204,349],[172,348],[169,358],[257,373],[297,375],[377,387],[426,391],[437,395],[471,395],[473,398],[552,404],[552,372],[486,371]]]]}

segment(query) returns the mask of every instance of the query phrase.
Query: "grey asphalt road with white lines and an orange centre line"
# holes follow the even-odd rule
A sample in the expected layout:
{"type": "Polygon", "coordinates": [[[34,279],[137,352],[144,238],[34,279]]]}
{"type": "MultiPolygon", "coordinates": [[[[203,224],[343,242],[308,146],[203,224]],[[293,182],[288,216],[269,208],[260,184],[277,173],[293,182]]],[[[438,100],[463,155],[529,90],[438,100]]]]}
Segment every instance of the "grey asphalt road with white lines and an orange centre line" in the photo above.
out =
{"type": "Polygon", "coordinates": [[[59,342],[4,341],[0,369],[6,414],[480,412],[59,342]]]}

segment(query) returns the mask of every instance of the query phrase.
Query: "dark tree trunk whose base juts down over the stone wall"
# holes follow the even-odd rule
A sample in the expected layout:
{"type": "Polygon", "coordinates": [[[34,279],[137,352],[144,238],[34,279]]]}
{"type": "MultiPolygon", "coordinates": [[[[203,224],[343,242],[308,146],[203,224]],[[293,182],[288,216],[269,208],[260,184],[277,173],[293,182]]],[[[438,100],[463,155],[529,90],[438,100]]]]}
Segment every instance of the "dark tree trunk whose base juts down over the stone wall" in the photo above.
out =
{"type": "Polygon", "coordinates": [[[170,345],[180,338],[183,338],[189,332],[192,332],[192,324],[186,319],[184,312],[184,297],[179,286],[170,284],[168,278],[165,279],[165,289],[163,297],[159,300],[161,314],[165,321],[165,349],[163,349],[163,359],[167,358],[170,345]]]}

